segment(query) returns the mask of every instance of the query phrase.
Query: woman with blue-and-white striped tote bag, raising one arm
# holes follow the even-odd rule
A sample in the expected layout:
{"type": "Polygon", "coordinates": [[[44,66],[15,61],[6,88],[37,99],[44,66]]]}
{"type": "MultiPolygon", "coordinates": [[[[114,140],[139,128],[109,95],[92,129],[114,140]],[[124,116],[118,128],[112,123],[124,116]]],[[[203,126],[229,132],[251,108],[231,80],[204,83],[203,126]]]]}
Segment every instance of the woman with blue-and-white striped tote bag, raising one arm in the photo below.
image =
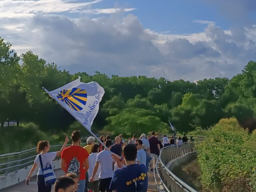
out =
{"type": "Polygon", "coordinates": [[[58,152],[49,152],[50,143],[49,141],[39,141],[37,143],[37,153],[39,155],[36,156],[34,164],[29,172],[29,175],[26,179],[26,185],[29,185],[29,180],[36,169],[37,165],[39,165],[39,169],[37,172],[37,186],[38,192],[51,192],[52,184],[54,184],[56,180],[56,176],[52,169],[52,161],[56,156],[60,156],[63,149],[66,147],[69,139],[66,137],[65,142],[58,152]]]}

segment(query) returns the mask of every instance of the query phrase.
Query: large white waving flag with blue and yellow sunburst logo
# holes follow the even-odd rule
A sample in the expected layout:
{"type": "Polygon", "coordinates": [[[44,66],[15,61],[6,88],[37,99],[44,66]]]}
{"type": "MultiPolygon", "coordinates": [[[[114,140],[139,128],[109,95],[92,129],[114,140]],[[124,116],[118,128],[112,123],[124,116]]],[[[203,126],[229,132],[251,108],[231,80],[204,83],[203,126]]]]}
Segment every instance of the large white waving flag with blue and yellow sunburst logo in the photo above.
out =
{"type": "Polygon", "coordinates": [[[96,117],[100,101],[105,93],[97,82],[81,83],[80,77],[69,84],[46,93],[54,98],[72,116],[74,116],[87,130],[96,117]]]}

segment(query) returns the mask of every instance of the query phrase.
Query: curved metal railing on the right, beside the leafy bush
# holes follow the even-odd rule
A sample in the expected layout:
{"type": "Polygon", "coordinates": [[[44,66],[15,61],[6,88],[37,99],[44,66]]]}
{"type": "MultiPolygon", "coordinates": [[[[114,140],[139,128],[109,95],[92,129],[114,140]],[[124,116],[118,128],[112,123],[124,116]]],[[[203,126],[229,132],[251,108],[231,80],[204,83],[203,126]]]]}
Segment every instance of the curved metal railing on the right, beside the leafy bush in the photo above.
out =
{"type": "Polygon", "coordinates": [[[167,146],[161,149],[154,169],[155,182],[159,192],[197,192],[179,179],[167,167],[171,161],[194,151],[194,142],[167,146]],[[157,181],[156,174],[158,175],[160,182],[157,181]]]}

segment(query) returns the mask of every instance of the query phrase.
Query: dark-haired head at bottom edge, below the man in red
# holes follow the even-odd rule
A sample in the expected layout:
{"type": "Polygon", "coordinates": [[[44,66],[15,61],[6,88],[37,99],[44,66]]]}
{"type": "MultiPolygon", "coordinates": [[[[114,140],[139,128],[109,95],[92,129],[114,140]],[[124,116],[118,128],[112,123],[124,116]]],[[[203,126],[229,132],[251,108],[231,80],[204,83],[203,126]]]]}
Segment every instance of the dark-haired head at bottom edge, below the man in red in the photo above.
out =
{"type": "Polygon", "coordinates": [[[54,192],[75,192],[75,181],[68,176],[59,177],[54,184],[54,192]]]}

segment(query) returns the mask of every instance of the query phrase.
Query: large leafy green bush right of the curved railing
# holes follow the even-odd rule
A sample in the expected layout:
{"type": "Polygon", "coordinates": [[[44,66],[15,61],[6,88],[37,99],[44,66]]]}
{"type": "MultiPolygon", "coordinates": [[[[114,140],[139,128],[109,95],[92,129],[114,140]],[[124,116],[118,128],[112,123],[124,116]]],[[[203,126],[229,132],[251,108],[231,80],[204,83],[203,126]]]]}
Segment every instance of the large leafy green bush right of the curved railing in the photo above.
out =
{"type": "Polygon", "coordinates": [[[248,134],[231,118],[220,120],[205,136],[207,139],[196,145],[204,187],[256,192],[256,135],[248,134]]]}

